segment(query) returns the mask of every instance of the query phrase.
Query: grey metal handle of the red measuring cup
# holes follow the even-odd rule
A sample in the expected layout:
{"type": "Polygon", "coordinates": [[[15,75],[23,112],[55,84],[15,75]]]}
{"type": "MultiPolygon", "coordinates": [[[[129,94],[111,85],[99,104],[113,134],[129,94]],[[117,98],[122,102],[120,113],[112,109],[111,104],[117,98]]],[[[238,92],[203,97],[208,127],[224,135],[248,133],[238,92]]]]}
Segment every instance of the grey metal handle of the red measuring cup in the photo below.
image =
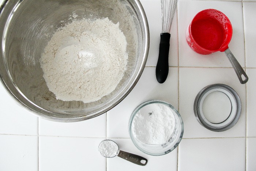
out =
{"type": "Polygon", "coordinates": [[[229,59],[231,65],[233,66],[236,74],[237,74],[237,77],[240,81],[241,84],[245,84],[247,83],[248,81],[248,76],[246,75],[244,69],[242,68],[242,66],[239,64],[239,62],[236,60],[236,58],[234,57],[234,55],[232,54],[232,52],[227,49],[224,51],[227,58],[229,59]],[[244,76],[245,78],[242,78],[242,76],[244,76]]]}

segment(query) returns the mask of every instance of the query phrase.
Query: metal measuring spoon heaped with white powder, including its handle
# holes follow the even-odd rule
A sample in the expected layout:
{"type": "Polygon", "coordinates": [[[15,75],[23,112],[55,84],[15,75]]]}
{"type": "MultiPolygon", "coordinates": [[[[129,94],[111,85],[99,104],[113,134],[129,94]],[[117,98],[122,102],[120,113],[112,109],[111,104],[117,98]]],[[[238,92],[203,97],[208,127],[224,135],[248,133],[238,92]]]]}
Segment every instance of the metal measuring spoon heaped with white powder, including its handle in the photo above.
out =
{"type": "Polygon", "coordinates": [[[118,156],[121,157],[122,159],[138,164],[140,166],[145,166],[147,164],[147,159],[145,159],[144,157],[119,150],[119,147],[116,144],[116,142],[112,140],[101,141],[99,143],[98,150],[103,157],[112,158],[118,156]]]}

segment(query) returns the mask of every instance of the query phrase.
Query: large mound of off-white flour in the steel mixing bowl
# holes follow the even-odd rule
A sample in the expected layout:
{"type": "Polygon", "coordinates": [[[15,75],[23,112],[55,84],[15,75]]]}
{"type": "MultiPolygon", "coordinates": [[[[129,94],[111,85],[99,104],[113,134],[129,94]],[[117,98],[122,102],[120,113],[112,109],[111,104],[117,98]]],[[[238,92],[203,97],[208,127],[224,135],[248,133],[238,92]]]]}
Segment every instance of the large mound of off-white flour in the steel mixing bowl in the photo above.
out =
{"type": "Polygon", "coordinates": [[[42,53],[46,84],[56,99],[97,101],[114,91],[124,76],[126,49],[119,23],[73,19],[53,34],[42,53]]]}

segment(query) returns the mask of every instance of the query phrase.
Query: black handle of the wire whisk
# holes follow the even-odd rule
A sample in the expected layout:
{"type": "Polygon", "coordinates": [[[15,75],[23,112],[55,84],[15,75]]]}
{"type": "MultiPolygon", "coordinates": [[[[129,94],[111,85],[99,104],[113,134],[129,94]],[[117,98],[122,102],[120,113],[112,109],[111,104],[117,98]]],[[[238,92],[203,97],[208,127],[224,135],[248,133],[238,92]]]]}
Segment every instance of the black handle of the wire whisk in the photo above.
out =
{"type": "Polygon", "coordinates": [[[169,49],[170,49],[170,33],[161,33],[159,45],[159,56],[155,75],[158,83],[164,83],[169,73],[169,49]]]}

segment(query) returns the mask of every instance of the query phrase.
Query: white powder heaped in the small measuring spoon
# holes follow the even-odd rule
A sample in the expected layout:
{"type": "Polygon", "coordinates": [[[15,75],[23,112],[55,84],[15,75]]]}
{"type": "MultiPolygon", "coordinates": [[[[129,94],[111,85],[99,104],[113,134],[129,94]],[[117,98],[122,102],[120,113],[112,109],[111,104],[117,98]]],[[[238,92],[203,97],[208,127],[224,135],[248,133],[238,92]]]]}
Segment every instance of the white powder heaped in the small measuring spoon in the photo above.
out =
{"type": "Polygon", "coordinates": [[[114,157],[118,153],[118,145],[114,141],[104,140],[99,144],[98,150],[104,157],[114,157]]]}

